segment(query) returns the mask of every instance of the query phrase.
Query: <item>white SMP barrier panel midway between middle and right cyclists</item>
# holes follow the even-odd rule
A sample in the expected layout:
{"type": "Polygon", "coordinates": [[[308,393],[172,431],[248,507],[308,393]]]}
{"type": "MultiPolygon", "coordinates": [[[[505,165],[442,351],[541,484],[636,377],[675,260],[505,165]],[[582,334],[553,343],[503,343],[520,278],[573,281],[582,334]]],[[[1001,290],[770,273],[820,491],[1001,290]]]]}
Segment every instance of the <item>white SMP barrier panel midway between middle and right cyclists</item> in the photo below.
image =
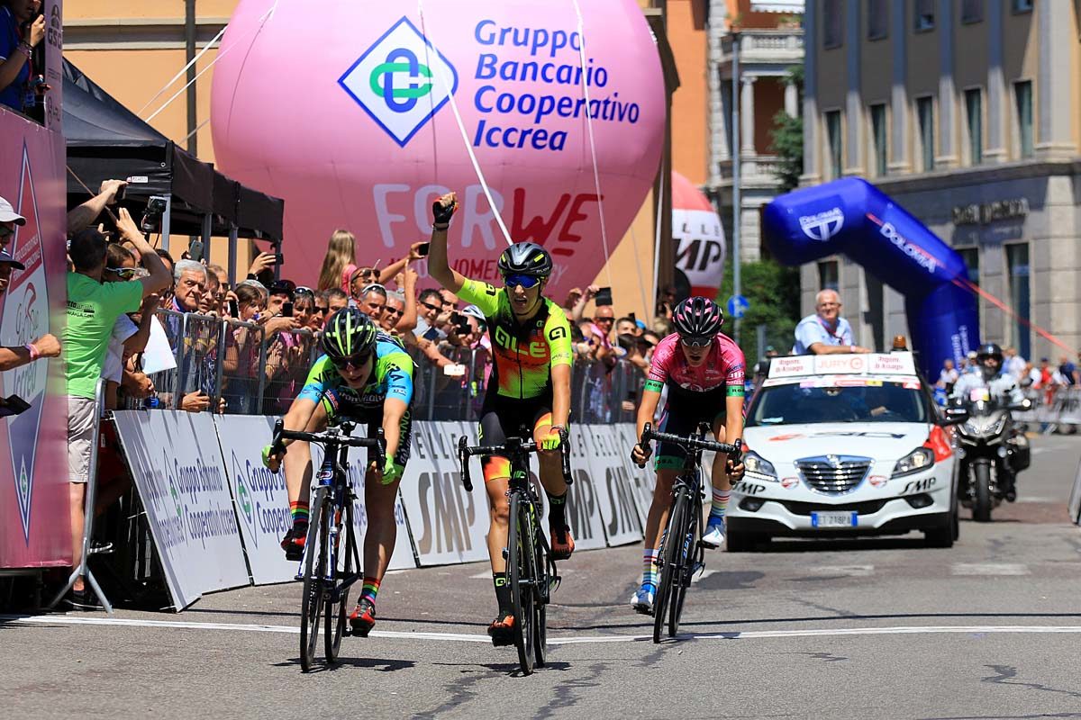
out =
{"type": "Polygon", "coordinates": [[[635,502],[630,473],[623,461],[619,436],[613,425],[583,429],[589,452],[593,486],[601,504],[601,518],[609,545],[626,545],[642,540],[642,524],[635,502]]]}

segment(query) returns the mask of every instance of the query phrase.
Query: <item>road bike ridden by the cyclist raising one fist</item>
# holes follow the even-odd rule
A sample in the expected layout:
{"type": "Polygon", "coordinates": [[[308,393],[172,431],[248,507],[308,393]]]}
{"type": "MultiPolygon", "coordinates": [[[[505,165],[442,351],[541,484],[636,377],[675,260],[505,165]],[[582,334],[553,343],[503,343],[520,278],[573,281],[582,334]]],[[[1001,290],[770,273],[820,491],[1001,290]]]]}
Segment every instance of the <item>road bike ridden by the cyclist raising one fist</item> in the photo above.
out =
{"type": "MultiPolygon", "coordinates": [[[[560,437],[563,480],[570,486],[570,445],[564,431],[560,431],[560,437]]],[[[509,437],[503,445],[470,446],[466,436],[458,438],[462,485],[468,492],[472,492],[469,456],[501,456],[510,460],[510,484],[507,488],[510,521],[503,556],[507,560],[507,585],[515,615],[515,647],[522,675],[530,675],[534,665],[545,665],[547,606],[561,580],[551,559],[548,539],[540,529],[539,499],[530,483],[530,453],[538,448],[524,429],[523,437],[509,437]]]]}

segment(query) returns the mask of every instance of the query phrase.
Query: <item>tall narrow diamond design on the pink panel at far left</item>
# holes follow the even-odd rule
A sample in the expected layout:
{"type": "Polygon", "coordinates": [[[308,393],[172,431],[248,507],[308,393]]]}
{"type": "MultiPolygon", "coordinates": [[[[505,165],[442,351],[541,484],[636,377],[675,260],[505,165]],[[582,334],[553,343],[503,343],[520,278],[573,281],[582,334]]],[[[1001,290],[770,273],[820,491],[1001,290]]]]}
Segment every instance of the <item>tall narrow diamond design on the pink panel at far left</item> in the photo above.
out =
{"type": "MultiPolygon", "coordinates": [[[[0,345],[18,347],[49,332],[49,291],[41,248],[41,226],[38,201],[34,194],[30,157],[23,146],[23,167],[15,212],[26,218],[26,225],[15,229],[9,252],[26,266],[14,270],[8,291],[0,297],[3,315],[0,320],[0,345]]],[[[15,394],[30,404],[26,412],[8,420],[8,443],[11,445],[12,472],[15,476],[15,498],[23,521],[23,535],[30,541],[30,505],[34,500],[34,470],[38,448],[41,408],[45,399],[49,363],[30,363],[0,373],[3,394],[15,394]]]]}

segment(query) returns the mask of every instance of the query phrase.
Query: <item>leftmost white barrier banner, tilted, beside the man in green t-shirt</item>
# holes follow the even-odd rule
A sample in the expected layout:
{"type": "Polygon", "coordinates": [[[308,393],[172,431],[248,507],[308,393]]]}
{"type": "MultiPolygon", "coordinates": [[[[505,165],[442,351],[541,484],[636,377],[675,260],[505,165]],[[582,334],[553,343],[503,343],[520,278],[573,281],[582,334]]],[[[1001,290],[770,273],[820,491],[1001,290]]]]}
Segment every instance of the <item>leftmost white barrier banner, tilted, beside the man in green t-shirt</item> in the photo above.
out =
{"type": "Polygon", "coordinates": [[[213,418],[172,410],[114,418],[176,609],[203,593],[248,585],[213,418]]]}

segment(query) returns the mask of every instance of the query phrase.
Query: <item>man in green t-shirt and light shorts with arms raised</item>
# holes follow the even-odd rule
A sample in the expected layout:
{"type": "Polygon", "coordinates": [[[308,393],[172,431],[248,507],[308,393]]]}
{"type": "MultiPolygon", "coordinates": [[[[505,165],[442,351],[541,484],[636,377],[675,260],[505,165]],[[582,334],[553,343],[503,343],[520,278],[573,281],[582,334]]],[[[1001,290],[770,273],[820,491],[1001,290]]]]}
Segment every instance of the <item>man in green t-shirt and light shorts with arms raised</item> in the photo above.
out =
{"type": "MultiPolygon", "coordinates": [[[[117,229],[121,240],[138,250],[143,267],[150,273],[148,277],[133,283],[102,284],[107,242],[96,230],[77,232],[68,247],[75,272],[67,275],[67,324],[62,338],[67,368],[71,567],[79,567],[82,560],[83,503],[85,484],[94,472],[90,454],[98,412],[94,393],[97,379],[102,377],[112,326],[122,313],[137,311],[144,297],[169,287],[171,281],[161,258],[122,207],[117,212],[117,229]]],[[[72,604],[85,604],[88,598],[82,578],[76,580],[71,589],[72,604]]]]}

